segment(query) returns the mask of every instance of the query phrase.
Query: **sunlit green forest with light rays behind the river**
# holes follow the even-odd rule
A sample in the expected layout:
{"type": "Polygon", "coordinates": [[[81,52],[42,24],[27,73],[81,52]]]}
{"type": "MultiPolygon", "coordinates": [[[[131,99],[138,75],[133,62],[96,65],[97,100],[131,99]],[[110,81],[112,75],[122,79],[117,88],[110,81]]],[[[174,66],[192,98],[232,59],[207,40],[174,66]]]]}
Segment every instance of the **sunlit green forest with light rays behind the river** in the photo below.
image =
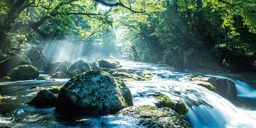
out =
{"type": "Polygon", "coordinates": [[[253,71],[255,1],[1,0],[2,60],[11,47],[44,48],[75,61],[97,58],[179,69],[253,71]]]}

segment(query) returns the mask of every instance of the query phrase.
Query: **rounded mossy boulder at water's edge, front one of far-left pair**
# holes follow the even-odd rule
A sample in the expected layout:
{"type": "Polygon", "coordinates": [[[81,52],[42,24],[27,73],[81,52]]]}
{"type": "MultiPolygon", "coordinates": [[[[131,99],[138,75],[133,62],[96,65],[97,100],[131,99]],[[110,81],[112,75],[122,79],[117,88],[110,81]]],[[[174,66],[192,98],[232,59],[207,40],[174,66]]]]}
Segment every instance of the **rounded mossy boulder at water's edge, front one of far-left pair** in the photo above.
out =
{"type": "Polygon", "coordinates": [[[12,81],[31,80],[39,76],[39,71],[31,65],[20,65],[6,73],[12,81]]]}

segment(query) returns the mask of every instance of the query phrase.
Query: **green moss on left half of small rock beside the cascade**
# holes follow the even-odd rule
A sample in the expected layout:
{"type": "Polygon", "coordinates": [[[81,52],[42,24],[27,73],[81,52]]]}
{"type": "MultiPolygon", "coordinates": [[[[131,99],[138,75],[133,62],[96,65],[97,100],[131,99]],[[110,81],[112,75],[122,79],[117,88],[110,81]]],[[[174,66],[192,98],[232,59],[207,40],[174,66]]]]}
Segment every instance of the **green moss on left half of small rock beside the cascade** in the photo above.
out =
{"type": "Polygon", "coordinates": [[[174,110],[175,104],[168,96],[157,94],[156,99],[161,100],[159,102],[161,104],[161,108],[168,107],[168,108],[171,108],[172,110],[174,110]]]}

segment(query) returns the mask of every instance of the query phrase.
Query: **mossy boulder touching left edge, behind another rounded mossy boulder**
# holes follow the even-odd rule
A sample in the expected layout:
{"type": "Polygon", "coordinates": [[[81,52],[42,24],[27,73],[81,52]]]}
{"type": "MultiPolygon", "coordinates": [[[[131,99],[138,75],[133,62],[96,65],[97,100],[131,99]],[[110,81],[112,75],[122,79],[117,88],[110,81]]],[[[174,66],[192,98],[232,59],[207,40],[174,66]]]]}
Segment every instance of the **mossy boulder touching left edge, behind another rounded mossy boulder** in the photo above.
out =
{"type": "Polygon", "coordinates": [[[19,65],[31,65],[31,61],[25,55],[17,55],[0,62],[0,68],[2,68],[4,73],[19,65]]]}

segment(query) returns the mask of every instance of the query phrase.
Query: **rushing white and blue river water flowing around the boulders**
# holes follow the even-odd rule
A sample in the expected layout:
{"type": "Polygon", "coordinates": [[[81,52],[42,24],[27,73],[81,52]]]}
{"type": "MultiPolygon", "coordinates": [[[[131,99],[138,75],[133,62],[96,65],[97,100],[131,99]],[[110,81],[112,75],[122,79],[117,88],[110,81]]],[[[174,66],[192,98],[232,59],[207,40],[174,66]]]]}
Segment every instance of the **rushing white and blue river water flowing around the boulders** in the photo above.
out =
{"type": "MultiPolygon", "coordinates": [[[[165,94],[173,100],[184,102],[189,112],[187,120],[196,128],[254,128],[256,127],[256,93],[246,83],[236,83],[238,96],[228,101],[215,92],[187,82],[191,74],[159,67],[158,64],[121,62],[125,69],[151,71],[151,81],[125,82],[132,92],[134,105],[155,106],[152,94],[165,94]]],[[[46,76],[46,75],[40,75],[46,76]]],[[[222,76],[216,76],[222,77],[222,76]]],[[[32,86],[46,89],[64,85],[69,79],[55,81],[28,80],[0,83],[0,126],[13,128],[140,128],[136,120],[128,117],[106,115],[65,116],[55,108],[35,108],[27,105],[40,90],[28,90],[32,86]],[[5,113],[15,116],[4,116],[5,113]]]]}

